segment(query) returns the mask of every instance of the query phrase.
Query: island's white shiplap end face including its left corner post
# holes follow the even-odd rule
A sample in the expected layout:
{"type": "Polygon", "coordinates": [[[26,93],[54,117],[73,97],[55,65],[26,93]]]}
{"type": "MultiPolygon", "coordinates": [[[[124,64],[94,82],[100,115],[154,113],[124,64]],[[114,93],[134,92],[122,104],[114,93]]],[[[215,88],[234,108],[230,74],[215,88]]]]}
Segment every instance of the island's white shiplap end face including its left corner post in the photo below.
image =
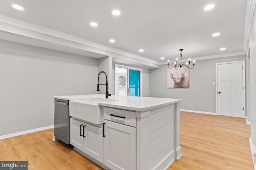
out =
{"type": "MultiPolygon", "coordinates": [[[[137,170],[166,169],[175,160],[177,104],[170,104],[137,116],[137,170]],[[142,157],[143,156],[143,157],[142,157]]],[[[178,110],[179,114],[179,110],[178,110]]]]}

